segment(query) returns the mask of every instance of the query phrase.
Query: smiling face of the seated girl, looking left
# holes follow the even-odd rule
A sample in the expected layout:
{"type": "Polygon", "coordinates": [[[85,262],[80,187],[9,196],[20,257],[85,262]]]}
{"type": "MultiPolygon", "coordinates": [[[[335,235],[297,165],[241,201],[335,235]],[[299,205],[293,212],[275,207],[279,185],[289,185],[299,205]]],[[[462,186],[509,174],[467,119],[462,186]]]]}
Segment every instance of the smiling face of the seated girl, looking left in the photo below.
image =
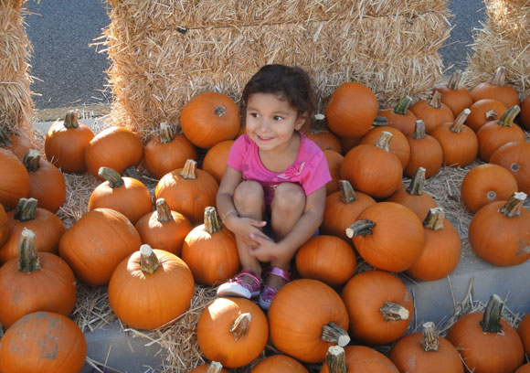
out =
{"type": "Polygon", "coordinates": [[[294,130],[300,130],[305,115],[272,93],[253,93],[247,102],[247,134],[262,152],[289,149],[294,130]]]}

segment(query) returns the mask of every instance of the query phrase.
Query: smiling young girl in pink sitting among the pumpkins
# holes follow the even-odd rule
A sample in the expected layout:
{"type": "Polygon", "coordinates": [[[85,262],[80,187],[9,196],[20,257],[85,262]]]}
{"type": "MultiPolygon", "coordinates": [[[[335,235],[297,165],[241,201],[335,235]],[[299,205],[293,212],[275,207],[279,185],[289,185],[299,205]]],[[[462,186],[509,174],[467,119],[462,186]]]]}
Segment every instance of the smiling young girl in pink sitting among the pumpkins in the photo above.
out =
{"type": "Polygon", "coordinates": [[[291,280],[296,250],[320,226],[331,176],[323,152],[299,132],[313,108],[311,80],[300,68],[264,66],[243,90],[239,111],[247,133],[232,145],[217,192],[242,271],[217,295],[260,296],[261,308],[269,309],[291,280]],[[266,275],[261,262],[270,263],[266,275]]]}

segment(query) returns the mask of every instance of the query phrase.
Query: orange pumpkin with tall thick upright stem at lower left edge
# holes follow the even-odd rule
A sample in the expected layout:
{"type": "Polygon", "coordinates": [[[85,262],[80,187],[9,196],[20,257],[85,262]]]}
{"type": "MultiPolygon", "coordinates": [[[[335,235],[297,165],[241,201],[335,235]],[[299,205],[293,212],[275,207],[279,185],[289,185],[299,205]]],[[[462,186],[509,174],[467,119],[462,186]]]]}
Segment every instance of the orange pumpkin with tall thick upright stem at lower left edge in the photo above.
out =
{"type": "Polygon", "coordinates": [[[9,327],[36,311],[68,316],[76,293],[76,278],[66,261],[49,252],[37,253],[35,233],[24,229],[18,258],[0,267],[0,323],[9,327]]]}

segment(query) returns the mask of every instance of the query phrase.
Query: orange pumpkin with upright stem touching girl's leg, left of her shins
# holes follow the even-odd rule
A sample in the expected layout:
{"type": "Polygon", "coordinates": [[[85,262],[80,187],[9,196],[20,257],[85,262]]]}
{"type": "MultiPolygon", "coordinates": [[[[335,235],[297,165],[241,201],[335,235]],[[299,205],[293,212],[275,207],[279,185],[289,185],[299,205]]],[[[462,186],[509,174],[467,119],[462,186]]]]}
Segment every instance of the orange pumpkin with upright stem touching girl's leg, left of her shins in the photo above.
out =
{"type": "Polygon", "coordinates": [[[221,225],[216,208],[205,208],[204,224],[185,236],[182,259],[198,283],[218,285],[239,272],[236,238],[221,225]]]}

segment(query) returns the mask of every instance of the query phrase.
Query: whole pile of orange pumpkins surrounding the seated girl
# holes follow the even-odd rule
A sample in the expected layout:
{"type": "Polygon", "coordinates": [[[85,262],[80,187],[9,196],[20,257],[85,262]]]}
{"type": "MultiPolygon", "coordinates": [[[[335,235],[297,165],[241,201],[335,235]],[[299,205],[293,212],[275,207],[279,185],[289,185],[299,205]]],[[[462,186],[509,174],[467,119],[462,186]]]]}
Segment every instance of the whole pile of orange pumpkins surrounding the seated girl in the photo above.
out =
{"type": "MultiPolygon", "coordinates": [[[[297,279],[267,314],[242,298],[207,305],[196,335],[211,363],[194,372],[307,372],[310,364],[332,373],[463,372],[463,359],[466,369],[498,373],[523,365],[530,316],[515,331],[494,294],[485,312],[461,317],[447,339],[432,323],[406,336],[414,307],[394,273],[439,280],[461,258],[458,230],[423,192],[441,165],[483,161],[461,185],[462,203],[474,214],[472,249],[496,265],[530,258],[523,206],[530,144],[522,129],[530,130],[530,99],[520,102],[504,84],[504,68],[472,91],[460,79],[455,73],[437,85],[430,100],[405,97],[385,109],[360,83],[333,92],[325,116],[302,129],[323,149],[333,176],[321,234],[298,250],[297,279]],[[373,270],[356,272],[356,253],[373,270]],[[281,354],[256,364],[268,342],[281,354]],[[388,345],[387,356],[375,349],[388,345]]],[[[24,137],[0,133],[0,372],[80,371],[87,346],[68,317],[76,281],[108,286],[124,324],[154,329],[177,322],[196,284],[216,286],[240,270],[234,235],[215,208],[228,151],[244,133],[238,107],[223,93],[197,94],[180,125],[182,133],[174,133],[161,123],[143,146],[127,128],[95,134],[68,112],[49,128],[45,156],[24,137]],[[157,180],[154,193],[138,178],[140,165],[157,180]],[[101,180],[69,229],[56,214],[72,193],[63,172],[101,180]],[[43,357],[48,336],[53,358],[43,357]]],[[[528,364],[517,370],[527,371],[528,364]]]]}

